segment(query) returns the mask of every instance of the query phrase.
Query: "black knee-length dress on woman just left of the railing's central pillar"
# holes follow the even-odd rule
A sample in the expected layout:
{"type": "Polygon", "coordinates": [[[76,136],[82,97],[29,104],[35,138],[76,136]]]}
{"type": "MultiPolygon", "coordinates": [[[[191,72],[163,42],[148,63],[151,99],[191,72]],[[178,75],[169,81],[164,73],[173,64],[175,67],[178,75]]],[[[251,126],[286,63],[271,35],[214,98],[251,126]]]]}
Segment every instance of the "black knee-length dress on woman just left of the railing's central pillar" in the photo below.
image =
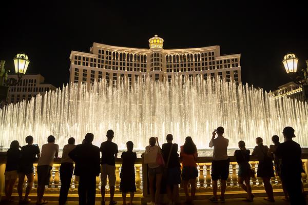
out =
{"type": "Polygon", "coordinates": [[[121,158],[123,162],[120,173],[120,192],[136,192],[134,162],[137,159],[137,154],[136,152],[123,152],[121,158]]]}

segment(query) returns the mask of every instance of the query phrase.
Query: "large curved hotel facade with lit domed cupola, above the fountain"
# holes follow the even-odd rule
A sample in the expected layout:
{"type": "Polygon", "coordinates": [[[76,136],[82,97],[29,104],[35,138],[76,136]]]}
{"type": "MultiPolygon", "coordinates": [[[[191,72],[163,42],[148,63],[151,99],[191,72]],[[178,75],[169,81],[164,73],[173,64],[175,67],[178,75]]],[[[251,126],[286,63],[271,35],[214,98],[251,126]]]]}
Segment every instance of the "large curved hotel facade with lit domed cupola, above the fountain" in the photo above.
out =
{"type": "Polygon", "coordinates": [[[93,43],[89,53],[71,51],[70,83],[106,79],[108,84],[118,85],[127,79],[131,85],[146,76],[170,81],[175,74],[185,79],[241,81],[240,54],[221,55],[219,46],[163,49],[163,42],[155,35],[149,39],[149,49],[93,43]]]}

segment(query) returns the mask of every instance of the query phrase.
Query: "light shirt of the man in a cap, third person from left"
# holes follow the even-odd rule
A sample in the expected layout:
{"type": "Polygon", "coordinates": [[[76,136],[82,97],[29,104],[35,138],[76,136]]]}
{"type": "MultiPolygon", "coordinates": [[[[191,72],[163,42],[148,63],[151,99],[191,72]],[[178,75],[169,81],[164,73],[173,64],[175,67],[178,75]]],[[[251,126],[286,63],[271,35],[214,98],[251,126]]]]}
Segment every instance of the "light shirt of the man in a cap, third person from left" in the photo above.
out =
{"type": "Polygon", "coordinates": [[[53,166],[54,156],[59,153],[59,145],[50,142],[42,146],[41,157],[38,159],[37,166],[53,166]]]}

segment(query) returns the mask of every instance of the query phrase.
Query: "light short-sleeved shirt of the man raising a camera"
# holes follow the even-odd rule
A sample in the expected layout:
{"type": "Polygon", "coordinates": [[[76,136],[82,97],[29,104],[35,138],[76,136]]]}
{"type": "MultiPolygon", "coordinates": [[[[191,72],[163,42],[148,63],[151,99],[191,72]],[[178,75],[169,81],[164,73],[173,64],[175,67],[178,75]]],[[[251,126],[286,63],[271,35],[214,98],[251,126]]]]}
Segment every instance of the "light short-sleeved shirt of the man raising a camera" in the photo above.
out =
{"type": "Polygon", "coordinates": [[[214,160],[227,160],[227,148],[229,145],[229,140],[224,137],[217,137],[216,139],[211,139],[209,142],[209,147],[214,146],[213,159],[214,160]]]}

